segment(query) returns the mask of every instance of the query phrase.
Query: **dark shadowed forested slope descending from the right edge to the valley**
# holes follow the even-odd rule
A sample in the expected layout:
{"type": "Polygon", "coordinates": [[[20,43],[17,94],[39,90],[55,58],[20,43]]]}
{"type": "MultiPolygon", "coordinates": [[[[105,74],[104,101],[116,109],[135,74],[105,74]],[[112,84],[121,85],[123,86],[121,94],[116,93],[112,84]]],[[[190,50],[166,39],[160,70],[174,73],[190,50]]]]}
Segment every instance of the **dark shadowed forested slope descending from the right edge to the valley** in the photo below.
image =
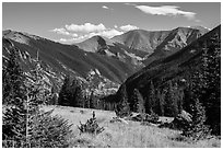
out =
{"type": "MultiPolygon", "coordinates": [[[[143,97],[148,97],[151,81],[155,89],[161,88],[163,90],[167,86],[168,81],[185,81],[190,73],[200,68],[204,46],[209,47],[213,42],[221,43],[219,41],[221,41],[221,26],[204,34],[181,50],[166,58],[153,61],[129,77],[122,86],[126,85],[127,88],[130,105],[133,105],[131,95],[134,89],[139,89],[143,97]]],[[[219,46],[216,48],[220,48],[219,46]]],[[[214,51],[210,50],[209,53],[209,55],[212,55],[214,51]]],[[[117,92],[118,95],[120,95],[120,89],[117,92]]]]}

